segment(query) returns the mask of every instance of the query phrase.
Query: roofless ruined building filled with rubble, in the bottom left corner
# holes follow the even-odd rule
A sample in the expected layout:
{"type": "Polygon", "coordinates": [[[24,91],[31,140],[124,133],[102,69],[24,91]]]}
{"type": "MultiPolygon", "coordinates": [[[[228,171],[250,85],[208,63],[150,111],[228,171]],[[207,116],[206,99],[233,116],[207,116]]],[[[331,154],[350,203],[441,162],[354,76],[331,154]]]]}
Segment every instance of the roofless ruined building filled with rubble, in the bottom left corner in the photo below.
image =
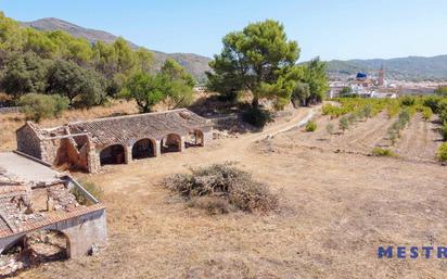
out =
{"type": "Polygon", "coordinates": [[[105,206],[71,177],[25,182],[0,168],[0,253],[25,249],[29,234],[44,231],[65,238],[67,257],[91,253],[106,243],[105,206]],[[75,189],[90,205],[78,202],[75,189]]]}

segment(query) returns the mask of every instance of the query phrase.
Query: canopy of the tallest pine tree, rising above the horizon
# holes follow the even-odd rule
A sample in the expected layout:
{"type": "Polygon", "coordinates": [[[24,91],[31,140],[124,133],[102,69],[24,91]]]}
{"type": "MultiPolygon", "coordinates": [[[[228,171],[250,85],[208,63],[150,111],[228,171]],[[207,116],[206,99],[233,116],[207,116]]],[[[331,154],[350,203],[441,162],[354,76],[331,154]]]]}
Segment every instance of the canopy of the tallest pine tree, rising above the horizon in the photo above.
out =
{"type": "Polygon", "coordinates": [[[286,78],[299,58],[296,41],[288,40],[284,26],[267,20],[233,31],[222,39],[224,49],[209,63],[208,87],[224,94],[247,90],[257,107],[260,98],[290,100],[293,83],[286,78]]]}

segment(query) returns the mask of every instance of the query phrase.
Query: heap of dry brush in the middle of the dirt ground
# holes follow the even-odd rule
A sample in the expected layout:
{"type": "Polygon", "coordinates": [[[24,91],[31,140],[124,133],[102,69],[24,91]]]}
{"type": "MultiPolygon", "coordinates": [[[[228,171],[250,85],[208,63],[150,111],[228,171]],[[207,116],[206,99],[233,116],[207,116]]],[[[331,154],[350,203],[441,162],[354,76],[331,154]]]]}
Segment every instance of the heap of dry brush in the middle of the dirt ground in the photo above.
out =
{"type": "Polygon", "coordinates": [[[163,185],[183,196],[190,206],[209,213],[227,213],[229,205],[245,212],[266,213],[278,208],[278,198],[267,185],[230,163],[190,169],[164,179],[163,185]],[[201,199],[206,196],[206,199],[201,199]]]}

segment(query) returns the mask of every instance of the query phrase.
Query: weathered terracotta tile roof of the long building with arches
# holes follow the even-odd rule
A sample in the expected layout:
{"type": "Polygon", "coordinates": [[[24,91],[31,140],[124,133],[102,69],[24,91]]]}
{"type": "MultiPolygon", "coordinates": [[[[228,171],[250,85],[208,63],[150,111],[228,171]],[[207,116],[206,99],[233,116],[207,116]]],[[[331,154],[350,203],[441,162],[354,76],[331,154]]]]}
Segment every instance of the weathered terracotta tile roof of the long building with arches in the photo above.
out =
{"type": "Polygon", "coordinates": [[[187,135],[210,126],[207,119],[186,109],[68,124],[72,132],[90,132],[93,142],[100,145],[125,143],[130,139],[162,139],[168,134],[187,135]]]}

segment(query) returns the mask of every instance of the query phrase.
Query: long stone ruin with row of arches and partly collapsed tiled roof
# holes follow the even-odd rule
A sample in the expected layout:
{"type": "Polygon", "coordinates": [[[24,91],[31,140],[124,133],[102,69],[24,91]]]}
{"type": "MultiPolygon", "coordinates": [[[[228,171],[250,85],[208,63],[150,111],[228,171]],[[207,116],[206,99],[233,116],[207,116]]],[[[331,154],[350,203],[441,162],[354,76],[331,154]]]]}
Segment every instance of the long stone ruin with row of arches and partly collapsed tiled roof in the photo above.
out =
{"type": "Polygon", "coordinates": [[[213,126],[180,109],[74,122],[49,129],[27,122],[16,136],[17,151],[22,153],[53,166],[95,173],[106,164],[127,164],[206,145],[213,139],[213,126]]]}

